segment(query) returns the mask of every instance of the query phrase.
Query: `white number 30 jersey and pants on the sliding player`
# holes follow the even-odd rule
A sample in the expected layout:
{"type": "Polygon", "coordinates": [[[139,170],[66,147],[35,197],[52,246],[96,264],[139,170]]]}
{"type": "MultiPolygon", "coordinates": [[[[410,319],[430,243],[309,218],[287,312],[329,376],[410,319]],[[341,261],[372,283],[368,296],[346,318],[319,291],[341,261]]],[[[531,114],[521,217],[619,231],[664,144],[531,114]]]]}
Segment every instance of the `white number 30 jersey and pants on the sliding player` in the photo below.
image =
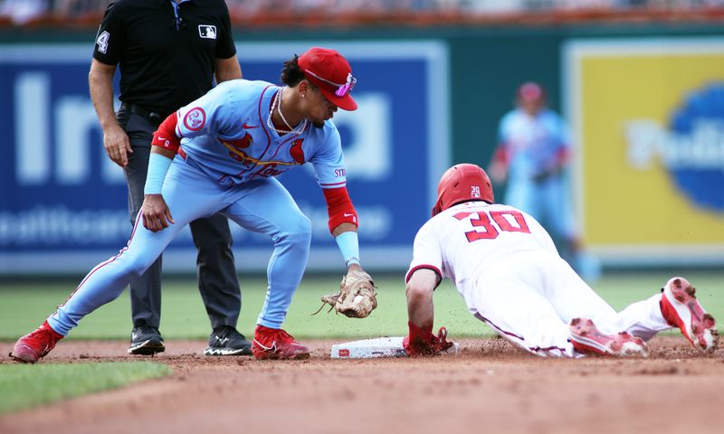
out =
{"type": "Polygon", "coordinates": [[[576,357],[573,318],[603,333],[651,338],[669,326],[658,294],[616,313],[560,258],[548,232],[509,205],[467,202],[440,212],[417,232],[407,271],[450,278],[473,316],[533,354],[576,357]]]}

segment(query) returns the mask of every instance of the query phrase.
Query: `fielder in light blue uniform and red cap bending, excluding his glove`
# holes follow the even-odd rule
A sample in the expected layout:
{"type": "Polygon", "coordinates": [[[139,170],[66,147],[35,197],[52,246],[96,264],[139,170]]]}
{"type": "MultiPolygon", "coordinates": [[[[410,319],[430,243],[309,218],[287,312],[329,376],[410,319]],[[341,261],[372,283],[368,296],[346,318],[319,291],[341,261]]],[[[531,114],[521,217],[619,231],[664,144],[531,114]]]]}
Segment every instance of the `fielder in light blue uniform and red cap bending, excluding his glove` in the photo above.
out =
{"type": "Polygon", "coordinates": [[[158,127],[145,201],[128,246],[92,269],[35,336],[18,341],[15,360],[37,361],[50,351],[43,349],[47,342],[38,342],[47,338],[54,345],[83,316],[119,297],[188,222],[216,212],[268,235],[274,244],[253,354],[309,357],[281,324],[307,265],[310,221],[275,176],[311,163],[328,203],[329,230],[348,269],[359,268],[357,213],[347,193],[339,133],[330,120],[338,108],[357,109],[349,94],[356,79],[344,57],[321,48],[285,61],[281,76],[285,87],[225,81],[158,127]],[[21,344],[38,348],[25,351],[21,344]]]}

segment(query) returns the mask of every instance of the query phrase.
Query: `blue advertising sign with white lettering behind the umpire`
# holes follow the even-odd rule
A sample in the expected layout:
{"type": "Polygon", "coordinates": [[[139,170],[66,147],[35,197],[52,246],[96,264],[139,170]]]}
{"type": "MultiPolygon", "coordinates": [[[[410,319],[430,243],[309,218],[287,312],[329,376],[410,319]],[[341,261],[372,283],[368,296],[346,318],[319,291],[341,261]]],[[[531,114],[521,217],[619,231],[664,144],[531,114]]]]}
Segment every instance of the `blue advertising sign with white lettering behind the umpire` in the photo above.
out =
{"type": "MultiPolygon", "coordinates": [[[[92,43],[92,42],[90,42],[92,43]]],[[[79,273],[125,246],[123,172],[110,162],[88,94],[92,45],[0,45],[0,275],[79,273]]],[[[449,163],[448,55],[441,42],[239,42],[243,75],[279,82],[281,62],[310,46],[342,52],[357,77],[354,112],[334,117],[363,263],[403,269],[449,163]]],[[[117,101],[118,107],[118,101],[117,101]]],[[[312,222],[310,269],[343,267],[310,167],[280,177],[312,222]]],[[[271,241],[231,223],[240,269],[262,270],[271,241]]],[[[193,271],[186,229],[164,267],[193,271]]]]}

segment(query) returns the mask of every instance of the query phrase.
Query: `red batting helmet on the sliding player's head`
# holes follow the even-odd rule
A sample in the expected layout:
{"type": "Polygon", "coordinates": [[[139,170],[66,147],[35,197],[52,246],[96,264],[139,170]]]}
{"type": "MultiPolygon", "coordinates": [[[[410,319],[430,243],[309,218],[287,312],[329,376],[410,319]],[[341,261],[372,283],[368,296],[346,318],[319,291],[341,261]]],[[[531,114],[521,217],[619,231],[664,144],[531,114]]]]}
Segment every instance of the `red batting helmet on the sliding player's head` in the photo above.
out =
{"type": "Polygon", "coordinates": [[[433,217],[452,205],[468,201],[493,202],[491,178],[477,165],[464,163],[447,169],[437,184],[433,217]]]}

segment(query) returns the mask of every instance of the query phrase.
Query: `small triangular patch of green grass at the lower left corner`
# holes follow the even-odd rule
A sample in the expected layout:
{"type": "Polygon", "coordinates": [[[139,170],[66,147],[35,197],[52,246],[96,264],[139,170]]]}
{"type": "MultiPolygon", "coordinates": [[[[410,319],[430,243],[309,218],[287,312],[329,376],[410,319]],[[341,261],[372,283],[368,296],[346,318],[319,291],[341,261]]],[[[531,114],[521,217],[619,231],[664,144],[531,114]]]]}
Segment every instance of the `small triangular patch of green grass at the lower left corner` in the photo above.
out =
{"type": "Polygon", "coordinates": [[[117,389],[172,373],[162,363],[41,363],[0,365],[0,414],[117,389]]]}

